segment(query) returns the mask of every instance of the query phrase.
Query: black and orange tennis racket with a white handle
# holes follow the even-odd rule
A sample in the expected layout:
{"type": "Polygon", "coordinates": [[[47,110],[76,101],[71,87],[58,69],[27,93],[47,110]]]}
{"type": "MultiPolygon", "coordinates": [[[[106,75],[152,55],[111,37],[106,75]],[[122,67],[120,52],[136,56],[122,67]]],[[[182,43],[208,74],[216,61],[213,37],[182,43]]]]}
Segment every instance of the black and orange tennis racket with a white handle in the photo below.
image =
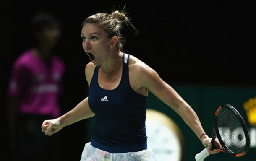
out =
{"type": "MultiPolygon", "coordinates": [[[[231,105],[220,106],[215,112],[212,150],[222,151],[231,156],[243,156],[247,153],[250,146],[250,138],[246,124],[239,112],[231,105]],[[219,140],[222,148],[214,147],[215,139],[219,140]]],[[[196,161],[203,161],[209,156],[205,148],[201,153],[196,154],[196,161]]]]}

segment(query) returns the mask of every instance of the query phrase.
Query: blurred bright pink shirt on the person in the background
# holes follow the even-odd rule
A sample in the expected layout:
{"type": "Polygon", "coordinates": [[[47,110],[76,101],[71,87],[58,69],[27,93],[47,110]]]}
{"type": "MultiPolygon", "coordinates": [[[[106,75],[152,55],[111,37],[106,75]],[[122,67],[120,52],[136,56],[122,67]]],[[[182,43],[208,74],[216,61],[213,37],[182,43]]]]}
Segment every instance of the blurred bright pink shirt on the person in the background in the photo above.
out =
{"type": "Polygon", "coordinates": [[[25,51],[14,62],[9,96],[19,99],[21,114],[60,116],[58,98],[63,91],[65,63],[52,55],[46,62],[31,50],[25,51]]]}

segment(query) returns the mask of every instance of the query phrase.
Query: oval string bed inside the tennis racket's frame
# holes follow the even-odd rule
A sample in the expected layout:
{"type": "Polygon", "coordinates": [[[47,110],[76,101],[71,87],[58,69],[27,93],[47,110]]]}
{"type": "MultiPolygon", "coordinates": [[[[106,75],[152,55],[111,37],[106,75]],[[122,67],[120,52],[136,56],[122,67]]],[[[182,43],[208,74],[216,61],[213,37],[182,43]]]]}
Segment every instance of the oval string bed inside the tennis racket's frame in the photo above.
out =
{"type": "Polygon", "coordinates": [[[234,153],[243,153],[246,138],[236,115],[227,108],[222,108],[217,117],[217,125],[222,141],[234,153]]]}

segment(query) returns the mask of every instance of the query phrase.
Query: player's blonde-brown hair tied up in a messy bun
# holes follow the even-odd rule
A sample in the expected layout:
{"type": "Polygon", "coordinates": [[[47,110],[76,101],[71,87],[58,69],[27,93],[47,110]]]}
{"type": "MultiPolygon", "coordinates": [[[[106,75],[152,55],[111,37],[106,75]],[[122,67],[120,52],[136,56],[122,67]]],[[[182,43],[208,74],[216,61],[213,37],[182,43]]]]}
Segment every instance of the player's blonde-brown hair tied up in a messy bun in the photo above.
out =
{"type": "Polygon", "coordinates": [[[121,34],[123,24],[125,23],[127,27],[130,24],[138,34],[137,29],[130,21],[131,19],[127,17],[127,13],[123,9],[121,11],[115,10],[111,14],[97,13],[92,15],[83,21],[82,26],[93,23],[99,29],[103,29],[108,34],[107,37],[109,39],[116,36],[118,38],[117,47],[123,51],[123,45],[125,43],[125,37],[121,34]]]}

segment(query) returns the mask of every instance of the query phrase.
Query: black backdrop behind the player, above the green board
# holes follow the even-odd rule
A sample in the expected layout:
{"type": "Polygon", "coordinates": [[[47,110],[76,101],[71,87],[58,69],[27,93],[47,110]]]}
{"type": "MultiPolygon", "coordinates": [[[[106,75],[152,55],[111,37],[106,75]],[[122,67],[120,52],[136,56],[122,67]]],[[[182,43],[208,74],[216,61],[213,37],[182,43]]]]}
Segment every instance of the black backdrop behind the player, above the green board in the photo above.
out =
{"type": "MultiPolygon", "coordinates": [[[[12,0],[1,10],[1,95],[3,110],[1,160],[9,160],[6,90],[13,61],[31,47],[30,18],[48,10],[63,20],[63,35],[55,53],[67,65],[63,114],[87,96],[84,75],[89,57],[82,49],[81,22],[113,6],[125,6],[132,27],[123,34],[124,52],[138,57],[175,84],[214,84],[255,87],[255,1],[120,1],[120,0],[12,0]],[[250,3],[249,3],[250,2],[250,3]],[[2,158],[3,157],[3,158],[2,158]]],[[[87,140],[86,120],[61,131],[61,160],[80,160],[87,140]]],[[[58,154],[59,155],[59,154],[58,154]]]]}

